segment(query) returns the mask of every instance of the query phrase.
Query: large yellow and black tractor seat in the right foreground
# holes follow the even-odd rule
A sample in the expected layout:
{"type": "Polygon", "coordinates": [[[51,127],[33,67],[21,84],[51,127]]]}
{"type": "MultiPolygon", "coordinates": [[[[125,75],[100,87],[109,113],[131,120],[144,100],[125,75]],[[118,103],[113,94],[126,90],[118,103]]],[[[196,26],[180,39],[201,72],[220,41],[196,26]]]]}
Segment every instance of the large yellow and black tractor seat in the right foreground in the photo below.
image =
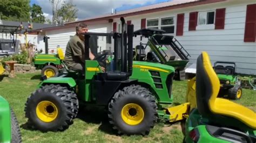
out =
{"type": "Polygon", "coordinates": [[[199,113],[206,117],[231,117],[256,129],[256,113],[227,99],[217,98],[219,89],[219,78],[212,68],[208,54],[203,52],[197,59],[196,93],[199,113]]]}

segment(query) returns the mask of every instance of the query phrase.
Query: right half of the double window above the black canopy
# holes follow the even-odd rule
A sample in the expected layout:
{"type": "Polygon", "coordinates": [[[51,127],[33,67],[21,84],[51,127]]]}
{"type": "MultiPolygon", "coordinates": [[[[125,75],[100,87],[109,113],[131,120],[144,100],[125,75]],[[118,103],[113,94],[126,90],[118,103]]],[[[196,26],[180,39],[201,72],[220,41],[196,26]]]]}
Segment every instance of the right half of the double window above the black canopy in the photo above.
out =
{"type": "Polygon", "coordinates": [[[174,18],[161,18],[161,30],[166,31],[166,33],[174,33],[174,18]]]}

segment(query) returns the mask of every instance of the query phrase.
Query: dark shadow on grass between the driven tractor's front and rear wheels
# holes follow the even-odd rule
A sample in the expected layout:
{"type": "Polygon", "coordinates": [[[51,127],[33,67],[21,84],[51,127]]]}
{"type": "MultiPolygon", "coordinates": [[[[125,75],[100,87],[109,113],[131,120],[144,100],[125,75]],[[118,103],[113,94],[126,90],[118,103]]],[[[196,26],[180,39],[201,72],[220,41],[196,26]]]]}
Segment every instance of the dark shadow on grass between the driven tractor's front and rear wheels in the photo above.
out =
{"type": "Polygon", "coordinates": [[[77,118],[91,124],[100,124],[98,130],[106,133],[117,135],[117,132],[112,129],[107,117],[107,111],[103,108],[83,108],[79,109],[77,118]]]}

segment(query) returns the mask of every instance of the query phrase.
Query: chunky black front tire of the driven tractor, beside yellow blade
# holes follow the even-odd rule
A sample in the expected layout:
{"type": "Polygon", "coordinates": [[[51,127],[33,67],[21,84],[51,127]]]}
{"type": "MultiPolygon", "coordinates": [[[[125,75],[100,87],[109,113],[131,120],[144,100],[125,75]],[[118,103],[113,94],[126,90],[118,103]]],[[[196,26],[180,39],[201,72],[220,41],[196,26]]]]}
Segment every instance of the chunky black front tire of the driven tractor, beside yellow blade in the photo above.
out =
{"type": "Polygon", "coordinates": [[[157,120],[156,99],[148,89],[140,85],[130,85],[114,94],[109,103],[108,116],[113,129],[117,130],[119,134],[147,135],[157,120]],[[129,105],[137,106],[134,108],[129,105]],[[124,110],[124,113],[123,109],[126,109],[126,107],[129,111],[126,110],[125,112],[124,110]],[[140,119],[140,122],[131,125],[125,122],[123,115],[130,116],[131,118],[137,118],[142,115],[144,116],[140,119]]]}

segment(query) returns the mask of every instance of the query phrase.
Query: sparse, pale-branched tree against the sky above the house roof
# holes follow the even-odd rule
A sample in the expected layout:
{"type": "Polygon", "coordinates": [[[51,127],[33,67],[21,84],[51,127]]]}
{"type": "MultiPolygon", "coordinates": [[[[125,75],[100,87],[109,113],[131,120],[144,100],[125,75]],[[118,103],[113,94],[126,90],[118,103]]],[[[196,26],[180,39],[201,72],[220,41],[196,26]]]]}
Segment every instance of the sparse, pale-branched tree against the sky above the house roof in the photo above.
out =
{"type": "Polygon", "coordinates": [[[63,23],[70,23],[70,22],[75,22],[77,18],[77,9],[76,5],[72,4],[72,1],[64,2],[62,4],[62,7],[58,10],[58,23],[63,24],[63,23]]]}

